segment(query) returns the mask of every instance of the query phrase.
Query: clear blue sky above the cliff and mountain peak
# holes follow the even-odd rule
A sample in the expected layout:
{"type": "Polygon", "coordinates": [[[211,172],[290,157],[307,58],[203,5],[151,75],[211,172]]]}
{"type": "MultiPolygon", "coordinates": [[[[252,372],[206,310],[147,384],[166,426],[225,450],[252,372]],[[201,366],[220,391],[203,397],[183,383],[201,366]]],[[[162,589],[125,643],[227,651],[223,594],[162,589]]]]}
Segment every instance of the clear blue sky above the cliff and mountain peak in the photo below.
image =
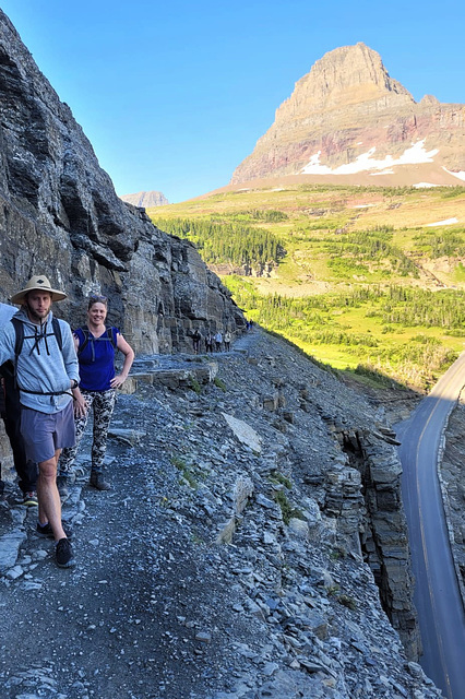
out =
{"type": "Polygon", "coordinates": [[[323,54],[365,42],[419,100],[465,103],[461,0],[3,0],[118,194],[223,187],[323,54]]]}

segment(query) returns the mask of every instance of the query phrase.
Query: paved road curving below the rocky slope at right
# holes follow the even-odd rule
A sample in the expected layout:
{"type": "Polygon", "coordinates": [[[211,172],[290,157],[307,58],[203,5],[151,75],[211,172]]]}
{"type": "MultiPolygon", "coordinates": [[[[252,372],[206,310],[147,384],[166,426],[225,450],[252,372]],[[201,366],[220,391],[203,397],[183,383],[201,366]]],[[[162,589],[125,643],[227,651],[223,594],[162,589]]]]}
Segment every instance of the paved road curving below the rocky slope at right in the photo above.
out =
{"type": "Polygon", "coordinates": [[[448,699],[465,699],[465,615],[437,475],[443,426],[465,386],[465,353],[412,417],[397,426],[426,674],[448,699]]]}

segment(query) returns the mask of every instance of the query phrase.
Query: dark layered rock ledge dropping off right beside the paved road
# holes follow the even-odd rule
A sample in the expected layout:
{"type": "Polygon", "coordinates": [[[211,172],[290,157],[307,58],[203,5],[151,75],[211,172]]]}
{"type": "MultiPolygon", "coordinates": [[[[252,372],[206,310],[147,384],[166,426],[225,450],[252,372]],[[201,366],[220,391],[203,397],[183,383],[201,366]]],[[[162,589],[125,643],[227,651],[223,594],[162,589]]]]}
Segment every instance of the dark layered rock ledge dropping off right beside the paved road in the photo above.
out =
{"type": "MultiPolygon", "coordinates": [[[[288,420],[291,381],[284,383],[288,420]]],[[[414,582],[401,495],[402,466],[390,438],[375,429],[379,422],[371,420],[373,429],[367,429],[368,415],[361,417],[358,410],[353,412],[349,393],[344,394],[343,387],[337,389],[336,384],[331,389],[331,383],[330,378],[319,379],[319,388],[324,384],[327,389],[322,402],[317,399],[320,391],[313,389],[310,391],[313,398],[302,400],[300,396],[299,402],[294,403],[294,410],[299,406],[306,412],[320,413],[320,425],[334,440],[331,455],[327,453],[330,460],[324,466],[323,461],[319,467],[310,466],[311,461],[306,457],[309,445],[297,439],[293,441],[296,465],[300,464],[301,479],[313,489],[312,497],[321,512],[335,522],[338,545],[362,556],[370,566],[385,613],[409,656],[418,657],[421,642],[412,602],[414,582]],[[332,390],[337,391],[335,404],[339,408],[344,406],[343,412],[326,402],[332,390]]],[[[308,393],[308,387],[300,387],[301,392],[308,393]]],[[[353,407],[356,405],[354,402],[353,407]]],[[[361,407],[362,403],[358,405],[361,407]]],[[[275,410],[283,413],[278,407],[275,410]]],[[[319,449],[320,445],[313,442],[312,451],[319,449]]]]}

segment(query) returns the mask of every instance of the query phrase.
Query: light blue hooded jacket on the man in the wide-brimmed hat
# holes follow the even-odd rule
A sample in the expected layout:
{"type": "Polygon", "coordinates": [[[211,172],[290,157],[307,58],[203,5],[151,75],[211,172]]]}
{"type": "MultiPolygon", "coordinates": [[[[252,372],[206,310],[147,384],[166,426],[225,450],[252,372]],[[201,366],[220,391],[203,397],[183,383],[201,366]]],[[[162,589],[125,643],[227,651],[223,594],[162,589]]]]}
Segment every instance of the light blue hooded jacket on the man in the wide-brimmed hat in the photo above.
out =
{"type": "MultiPolygon", "coordinates": [[[[64,320],[58,321],[62,337],[60,351],[52,334],[51,311],[41,324],[33,323],[24,308],[16,318],[24,324],[24,343],[17,358],[21,404],[40,413],[59,413],[72,400],[71,381],[79,381],[79,364],[71,328],[64,320]],[[46,395],[47,393],[56,395],[46,395]]],[[[8,359],[14,362],[15,340],[12,322],[0,327],[0,364],[8,359]]]]}

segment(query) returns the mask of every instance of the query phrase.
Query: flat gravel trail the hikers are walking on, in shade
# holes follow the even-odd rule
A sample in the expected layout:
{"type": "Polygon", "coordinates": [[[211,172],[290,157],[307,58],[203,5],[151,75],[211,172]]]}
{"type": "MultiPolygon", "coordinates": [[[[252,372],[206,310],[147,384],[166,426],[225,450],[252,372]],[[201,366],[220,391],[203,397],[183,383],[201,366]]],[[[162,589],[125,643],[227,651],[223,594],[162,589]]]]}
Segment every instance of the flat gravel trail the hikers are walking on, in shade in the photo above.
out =
{"type": "MultiPolygon", "coordinates": [[[[136,402],[121,395],[114,424],[139,428],[136,402]]],[[[144,404],[146,424],[157,422],[152,407],[159,413],[158,404],[144,404]]],[[[133,448],[110,440],[108,457],[114,489],[94,490],[85,477],[63,506],[63,519],[74,521],[74,569],[56,567],[53,544],[35,534],[36,510],[27,510],[19,561],[25,573],[0,580],[2,699],[180,699],[193,687],[202,696],[214,648],[195,640],[196,625],[184,619],[218,583],[208,584],[189,532],[156,517],[156,439],[133,448]]],[[[1,508],[2,532],[9,518],[1,508]]]]}

